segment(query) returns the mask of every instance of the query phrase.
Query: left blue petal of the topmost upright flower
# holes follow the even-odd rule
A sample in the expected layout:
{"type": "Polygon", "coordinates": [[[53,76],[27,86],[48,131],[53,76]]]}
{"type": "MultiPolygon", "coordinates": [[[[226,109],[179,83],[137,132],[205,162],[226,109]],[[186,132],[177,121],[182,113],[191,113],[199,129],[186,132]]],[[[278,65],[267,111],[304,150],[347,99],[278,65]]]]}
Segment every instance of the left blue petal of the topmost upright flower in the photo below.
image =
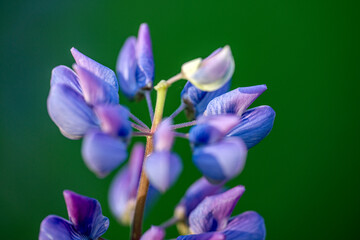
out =
{"type": "Polygon", "coordinates": [[[116,62],[116,72],[119,78],[121,92],[133,99],[139,87],[136,82],[136,38],[129,37],[124,43],[116,62]]]}

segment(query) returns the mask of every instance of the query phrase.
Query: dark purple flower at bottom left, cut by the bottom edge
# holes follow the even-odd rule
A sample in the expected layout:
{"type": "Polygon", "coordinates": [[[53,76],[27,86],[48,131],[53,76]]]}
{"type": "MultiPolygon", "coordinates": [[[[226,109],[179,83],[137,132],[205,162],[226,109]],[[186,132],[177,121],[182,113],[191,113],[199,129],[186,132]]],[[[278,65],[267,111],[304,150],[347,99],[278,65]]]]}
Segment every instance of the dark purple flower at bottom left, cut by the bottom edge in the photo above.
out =
{"type": "Polygon", "coordinates": [[[101,212],[100,203],[93,198],[64,191],[69,220],[50,215],[40,226],[39,240],[98,239],[109,227],[109,219],[101,212]]]}

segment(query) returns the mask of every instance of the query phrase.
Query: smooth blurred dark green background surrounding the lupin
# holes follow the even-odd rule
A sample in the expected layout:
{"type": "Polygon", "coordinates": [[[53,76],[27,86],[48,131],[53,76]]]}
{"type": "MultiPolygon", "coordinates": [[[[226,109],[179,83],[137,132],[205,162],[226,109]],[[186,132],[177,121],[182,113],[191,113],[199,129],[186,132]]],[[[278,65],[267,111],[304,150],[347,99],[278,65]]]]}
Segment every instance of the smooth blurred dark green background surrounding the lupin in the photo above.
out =
{"type": "MultiPolygon", "coordinates": [[[[63,189],[97,198],[111,224],[107,239],[127,239],[107,192],[84,165],[81,141],[63,137],[46,98],[52,68],[71,66],[72,46],[114,68],[125,39],[150,26],[156,81],[182,63],[229,44],[232,88],[267,84],[253,104],[276,113],[270,135],[249,151],[229,185],[247,191],[235,213],[256,210],[267,239],[357,239],[359,175],[359,7],[356,1],[2,1],[0,4],[0,229],[2,239],[36,239],[49,214],[66,217],[63,189]]],[[[183,82],[169,91],[166,113],[183,82]]],[[[155,96],[153,96],[155,97],[155,96]]],[[[127,104],[124,98],[121,102],[127,104]]],[[[129,105],[148,121],[145,103],[129,105]]],[[[178,122],[184,121],[181,116],[178,122]]],[[[136,139],[138,140],[138,139],[136,139]]],[[[160,224],[200,174],[178,140],[184,171],[146,221],[160,224]]],[[[172,229],[168,237],[175,237],[172,229]]]]}

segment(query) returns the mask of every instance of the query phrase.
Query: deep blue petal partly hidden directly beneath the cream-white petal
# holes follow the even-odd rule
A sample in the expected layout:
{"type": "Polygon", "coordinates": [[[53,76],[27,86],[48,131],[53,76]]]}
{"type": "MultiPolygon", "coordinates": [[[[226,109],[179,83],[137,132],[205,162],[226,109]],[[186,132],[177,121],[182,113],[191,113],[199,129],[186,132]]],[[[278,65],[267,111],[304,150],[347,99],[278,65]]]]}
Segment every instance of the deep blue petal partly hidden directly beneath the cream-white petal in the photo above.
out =
{"type": "Polygon", "coordinates": [[[227,91],[229,91],[231,80],[224,86],[213,92],[205,92],[196,88],[190,82],[187,82],[184,89],[181,91],[181,99],[186,105],[185,113],[189,119],[195,119],[197,116],[204,113],[209,102],[227,91]]]}

